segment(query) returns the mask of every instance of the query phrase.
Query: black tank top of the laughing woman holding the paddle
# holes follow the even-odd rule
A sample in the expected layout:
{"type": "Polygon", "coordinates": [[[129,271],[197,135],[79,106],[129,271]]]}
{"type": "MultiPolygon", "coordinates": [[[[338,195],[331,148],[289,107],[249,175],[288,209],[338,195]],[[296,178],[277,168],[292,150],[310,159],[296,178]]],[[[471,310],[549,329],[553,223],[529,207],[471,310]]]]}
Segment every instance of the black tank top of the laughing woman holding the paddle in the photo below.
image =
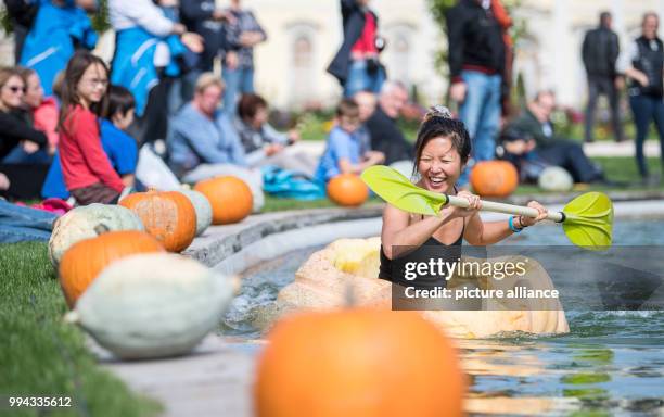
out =
{"type": "MultiPolygon", "coordinates": [[[[457,239],[451,244],[445,244],[433,236],[426,239],[424,243],[418,247],[414,251],[409,252],[405,255],[405,258],[413,260],[413,261],[429,261],[430,257],[440,258],[443,262],[457,262],[461,257],[461,245],[463,244],[463,233],[465,232],[465,219],[463,219],[463,227],[461,228],[461,235],[459,239],[457,239]]],[[[379,269],[379,278],[391,281],[393,283],[398,283],[401,286],[412,285],[412,282],[407,281],[404,278],[404,274],[400,274],[398,270],[393,271],[395,267],[401,266],[404,264],[404,260],[399,256],[399,260],[391,260],[385,255],[385,251],[383,250],[383,245],[381,244],[381,266],[379,269]],[[395,265],[398,264],[398,265],[395,265]]],[[[436,279],[432,282],[426,282],[426,280],[419,280],[417,282],[419,286],[440,286],[445,287],[447,281],[442,279],[436,279]]]]}

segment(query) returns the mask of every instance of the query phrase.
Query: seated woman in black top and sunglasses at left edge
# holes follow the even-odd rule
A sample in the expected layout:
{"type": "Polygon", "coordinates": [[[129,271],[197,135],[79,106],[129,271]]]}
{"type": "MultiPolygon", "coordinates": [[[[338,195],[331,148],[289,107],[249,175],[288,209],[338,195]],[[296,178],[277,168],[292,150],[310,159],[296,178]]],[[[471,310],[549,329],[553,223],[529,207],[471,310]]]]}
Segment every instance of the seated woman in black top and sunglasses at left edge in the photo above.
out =
{"type": "Polygon", "coordinates": [[[49,155],[47,136],[30,126],[23,111],[25,83],[15,68],[0,70],[0,172],[11,186],[8,194],[39,197],[49,155]]]}

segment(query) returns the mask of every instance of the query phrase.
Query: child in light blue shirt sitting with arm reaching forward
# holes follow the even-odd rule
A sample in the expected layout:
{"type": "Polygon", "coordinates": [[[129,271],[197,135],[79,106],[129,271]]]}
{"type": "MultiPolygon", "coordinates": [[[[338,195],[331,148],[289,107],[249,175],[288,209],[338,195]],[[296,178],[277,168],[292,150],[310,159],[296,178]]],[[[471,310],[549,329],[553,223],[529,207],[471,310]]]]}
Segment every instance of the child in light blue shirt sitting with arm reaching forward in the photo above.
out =
{"type": "Polygon", "coordinates": [[[360,123],[355,100],[343,99],[336,108],[336,125],[328,136],[316,180],[327,184],[340,174],[361,174],[366,168],[385,161],[382,152],[366,149],[360,123]]]}

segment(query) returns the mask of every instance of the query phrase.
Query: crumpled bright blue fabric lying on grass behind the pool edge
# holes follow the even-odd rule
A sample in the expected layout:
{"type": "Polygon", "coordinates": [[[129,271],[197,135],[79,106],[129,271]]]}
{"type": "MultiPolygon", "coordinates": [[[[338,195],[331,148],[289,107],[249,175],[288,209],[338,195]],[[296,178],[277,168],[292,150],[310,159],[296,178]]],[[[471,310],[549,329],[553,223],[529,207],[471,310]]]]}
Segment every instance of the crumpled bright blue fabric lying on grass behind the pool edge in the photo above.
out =
{"type": "Polygon", "coordinates": [[[268,165],[263,170],[263,190],[268,194],[296,200],[325,199],[325,187],[305,174],[268,165]]]}

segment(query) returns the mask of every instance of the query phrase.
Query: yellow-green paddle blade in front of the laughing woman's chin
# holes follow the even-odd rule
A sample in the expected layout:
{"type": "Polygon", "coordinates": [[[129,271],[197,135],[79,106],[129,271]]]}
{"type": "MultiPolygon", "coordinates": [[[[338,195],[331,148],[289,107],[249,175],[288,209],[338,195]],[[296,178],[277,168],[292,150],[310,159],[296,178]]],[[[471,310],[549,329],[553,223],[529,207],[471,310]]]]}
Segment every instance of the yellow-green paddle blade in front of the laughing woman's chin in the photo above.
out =
{"type": "Polygon", "coordinates": [[[381,199],[409,213],[433,216],[447,202],[445,194],[420,188],[388,166],[371,166],[360,177],[381,199]]]}

